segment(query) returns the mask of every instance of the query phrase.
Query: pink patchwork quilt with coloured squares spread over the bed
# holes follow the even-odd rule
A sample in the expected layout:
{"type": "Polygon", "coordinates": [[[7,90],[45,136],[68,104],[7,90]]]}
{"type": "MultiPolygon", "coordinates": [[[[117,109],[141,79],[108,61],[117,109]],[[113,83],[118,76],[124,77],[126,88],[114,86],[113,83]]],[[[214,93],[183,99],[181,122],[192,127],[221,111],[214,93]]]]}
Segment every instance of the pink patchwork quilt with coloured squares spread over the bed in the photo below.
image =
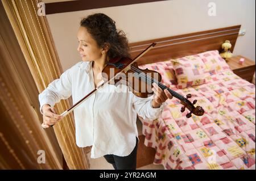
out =
{"type": "MultiPolygon", "coordinates": [[[[158,69],[167,82],[170,75],[158,69]]],[[[255,169],[255,86],[227,69],[208,74],[206,83],[170,89],[204,108],[203,116],[187,118],[176,98],[162,115],[144,121],[144,144],[155,148],[154,164],[164,169],[255,169]]],[[[172,80],[174,82],[174,80],[172,80]]]]}

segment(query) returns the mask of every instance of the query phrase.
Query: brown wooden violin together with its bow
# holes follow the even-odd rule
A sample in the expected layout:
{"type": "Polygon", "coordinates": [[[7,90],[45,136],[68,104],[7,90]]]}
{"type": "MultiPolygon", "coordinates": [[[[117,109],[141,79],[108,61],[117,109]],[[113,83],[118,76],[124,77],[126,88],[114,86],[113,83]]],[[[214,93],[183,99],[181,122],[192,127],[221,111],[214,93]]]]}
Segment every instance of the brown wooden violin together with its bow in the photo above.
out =
{"type": "Polygon", "coordinates": [[[68,113],[73,111],[77,106],[79,106],[82,102],[84,102],[90,95],[100,89],[106,83],[117,85],[119,81],[125,81],[131,89],[133,89],[133,94],[141,97],[147,98],[151,96],[154,92],[152,91],[152,83],[156,83],[162,90],[167,89],[172,96],[180,100],[180,103],[183,105],[181,107],[181,112],[185,111],[185,108],[189,110],[186,117],[189,118],[192,116],[192,113],[196,116],[202,116],[204,114],[204,110],[200,106],[194,106],[197,100],[193,100],[191,103],[188,99],[191,98],[191,94],[188,94],[186,98],[184,96],[178,94],[174,90],[169,89],[160,83],[162,77],[161,75],[154,70],[148,69],[139,69],[136,61],[143,56],[148,50],[154,47],[156,43],[152,43],[149,47],[147,47],[141,54],[139,54],[134,59],[124,58],[124,57],[116,57],[108,61],[105,68],[102,70],[102,82],[100,85],[96,87],[96,89],[92,90],[84,96],[79,102],[74,104],[71,108],[61,113],[61,116],[66,116],[68,113]]]}

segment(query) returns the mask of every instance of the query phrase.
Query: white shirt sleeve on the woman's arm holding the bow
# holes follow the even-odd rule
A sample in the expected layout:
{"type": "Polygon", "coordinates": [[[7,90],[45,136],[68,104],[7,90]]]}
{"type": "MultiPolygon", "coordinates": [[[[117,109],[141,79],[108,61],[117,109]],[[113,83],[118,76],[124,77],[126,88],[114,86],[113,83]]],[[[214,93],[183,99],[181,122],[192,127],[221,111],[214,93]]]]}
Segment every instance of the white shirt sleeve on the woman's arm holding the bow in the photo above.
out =
{"type": "Polygon", "coordinates": [[[49,83],[48,87],[39,94],[40,112],[44,104],[53,107],[61,99],[68,99],[72,93],[71,69],[66,70],[60,75],[59,79],[55,79],[49,83]]]}

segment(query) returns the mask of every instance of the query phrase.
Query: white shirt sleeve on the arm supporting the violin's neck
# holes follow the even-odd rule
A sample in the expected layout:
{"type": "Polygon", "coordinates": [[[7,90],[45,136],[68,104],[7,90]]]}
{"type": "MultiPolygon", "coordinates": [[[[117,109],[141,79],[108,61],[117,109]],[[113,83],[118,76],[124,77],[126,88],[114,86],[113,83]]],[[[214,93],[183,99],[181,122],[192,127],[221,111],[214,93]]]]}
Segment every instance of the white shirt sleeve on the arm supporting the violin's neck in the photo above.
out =
{"type": "Polygon", "coordinates": [[[157,119],[163,111],[163,107],[165,104],[161,104],[159,108],[152,107],[152,99],[153,96],[148,98],[140,98],[134,95],[133,98],[133,107],[139,116],[142,117],[143,120],[151,121],[157,119]]]}

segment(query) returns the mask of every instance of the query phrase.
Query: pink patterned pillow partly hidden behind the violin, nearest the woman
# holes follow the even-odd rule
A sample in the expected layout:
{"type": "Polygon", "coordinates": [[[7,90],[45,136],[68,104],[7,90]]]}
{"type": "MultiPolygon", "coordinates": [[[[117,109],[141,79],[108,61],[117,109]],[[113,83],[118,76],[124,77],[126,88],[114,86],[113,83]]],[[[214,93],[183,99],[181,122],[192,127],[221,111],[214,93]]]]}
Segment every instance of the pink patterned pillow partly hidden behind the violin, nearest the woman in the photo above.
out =
{"type": "Polygon", "coordinates": [[[170,61],[140,65],[139,68],[158,71],[158,73],[160,73],[160,75],[162,76],[162,83],[167,83],[168,85],[177,84],[174,68],[172,67],[172,63],[170,61]]]}

